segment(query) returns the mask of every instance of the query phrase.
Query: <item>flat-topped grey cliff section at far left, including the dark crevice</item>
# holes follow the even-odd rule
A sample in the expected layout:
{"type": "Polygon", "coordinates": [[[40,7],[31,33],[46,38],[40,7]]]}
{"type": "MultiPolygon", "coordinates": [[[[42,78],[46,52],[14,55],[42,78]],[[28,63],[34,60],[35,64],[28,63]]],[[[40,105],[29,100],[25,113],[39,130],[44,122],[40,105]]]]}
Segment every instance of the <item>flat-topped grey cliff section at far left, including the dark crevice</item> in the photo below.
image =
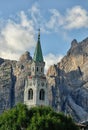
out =
{"type": "Polygon", "coordinates": [[[0,59],[0,113],[14,103],[15,64],[16,61],[0,59]]]}

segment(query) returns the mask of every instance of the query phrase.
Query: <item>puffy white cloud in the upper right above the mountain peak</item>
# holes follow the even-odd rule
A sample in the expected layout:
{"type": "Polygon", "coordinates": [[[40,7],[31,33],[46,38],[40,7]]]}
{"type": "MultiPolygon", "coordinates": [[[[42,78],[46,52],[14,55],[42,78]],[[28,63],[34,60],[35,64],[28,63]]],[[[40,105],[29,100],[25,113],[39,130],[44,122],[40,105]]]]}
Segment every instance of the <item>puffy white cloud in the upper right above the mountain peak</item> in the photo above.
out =
{"type": "Polygon", "coordinates": [[[59,30],[71,30],[79,28],[88,28],[88,11],[81,6],[74,6],[71,9],[67,9],[64,15],[58,10],[50,10],[51,17],[46,23],[48,29],[52,29],[56,32],[59,30]]]}

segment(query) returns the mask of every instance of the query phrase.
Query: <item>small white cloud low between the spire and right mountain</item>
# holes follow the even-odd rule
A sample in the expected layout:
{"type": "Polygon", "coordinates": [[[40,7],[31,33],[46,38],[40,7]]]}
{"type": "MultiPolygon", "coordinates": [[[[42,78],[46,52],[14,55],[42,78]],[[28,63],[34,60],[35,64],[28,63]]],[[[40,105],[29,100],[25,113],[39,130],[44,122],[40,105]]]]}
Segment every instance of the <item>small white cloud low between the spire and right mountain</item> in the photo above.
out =
{"type": "Polygon", "coordinates": [[[53,64],[57,64],[61,59],[62,59],[62,55],[54,55],[52,53],[49,53],[48,55],[44,56],[44,60],[45,60],[45,72],[47,72],[47,70],[49,69],[50,65],[53,64]]]}

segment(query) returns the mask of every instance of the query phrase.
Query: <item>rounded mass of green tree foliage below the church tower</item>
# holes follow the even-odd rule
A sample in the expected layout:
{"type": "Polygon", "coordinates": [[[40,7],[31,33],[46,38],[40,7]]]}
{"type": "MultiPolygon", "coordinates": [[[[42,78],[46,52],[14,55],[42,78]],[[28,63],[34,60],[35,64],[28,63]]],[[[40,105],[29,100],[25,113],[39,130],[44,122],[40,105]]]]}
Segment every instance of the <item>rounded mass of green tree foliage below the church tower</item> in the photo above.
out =
{"type": "Polygon", "coordinates": [[[50,107],[18,104],[0,116],[0,130],[78,130],[71,117],[54,112],[50,107]]]}

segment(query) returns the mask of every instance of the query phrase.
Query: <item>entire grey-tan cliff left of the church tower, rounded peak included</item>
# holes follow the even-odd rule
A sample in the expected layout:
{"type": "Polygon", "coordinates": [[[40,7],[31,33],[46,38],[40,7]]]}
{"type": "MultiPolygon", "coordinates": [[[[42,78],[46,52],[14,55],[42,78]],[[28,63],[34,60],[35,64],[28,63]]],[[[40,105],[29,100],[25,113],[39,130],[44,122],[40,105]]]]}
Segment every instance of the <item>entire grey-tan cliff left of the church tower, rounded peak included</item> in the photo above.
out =
{"type": "Polygon", "coordinates": [[[0,58],[0,113],[18,102],[23,103],[25,79],[30,75],[31,61],[29,52],[25,52],[19,61],[0,58]]]}

